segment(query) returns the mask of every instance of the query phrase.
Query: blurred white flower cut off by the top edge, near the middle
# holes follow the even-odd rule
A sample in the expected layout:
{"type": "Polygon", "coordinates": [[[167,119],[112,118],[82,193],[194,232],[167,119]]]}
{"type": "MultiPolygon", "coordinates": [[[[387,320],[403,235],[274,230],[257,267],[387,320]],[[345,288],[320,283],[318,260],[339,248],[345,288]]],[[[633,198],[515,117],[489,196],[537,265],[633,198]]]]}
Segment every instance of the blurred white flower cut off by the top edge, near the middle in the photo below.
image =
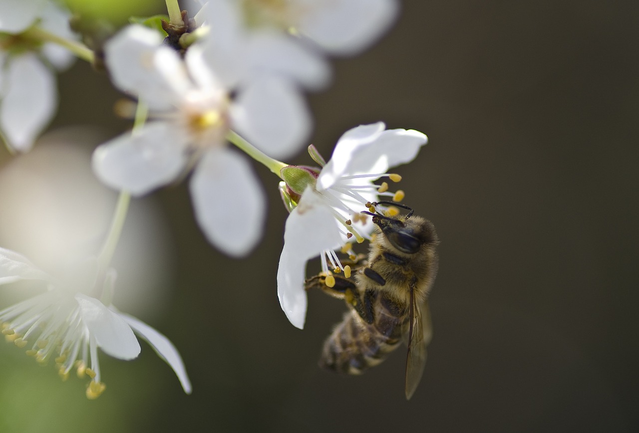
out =
{"type": "Polygon", "coordinates": [[[353,55],[394,22],[396,0],[210,0],[206,55],[228,80],[273,73],[318,89],[330,69],[322,54],[353,55]]]}

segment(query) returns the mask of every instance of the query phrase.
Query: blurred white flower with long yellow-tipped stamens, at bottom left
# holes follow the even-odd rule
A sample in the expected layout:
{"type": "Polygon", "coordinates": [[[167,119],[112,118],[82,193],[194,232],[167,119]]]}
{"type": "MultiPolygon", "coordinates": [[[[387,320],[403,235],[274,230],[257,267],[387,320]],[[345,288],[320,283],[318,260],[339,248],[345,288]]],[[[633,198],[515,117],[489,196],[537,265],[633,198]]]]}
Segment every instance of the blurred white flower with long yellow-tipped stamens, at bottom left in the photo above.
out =
{"type": "MultiPolygon", "coordinates": [[[[180,379],[186,393],[191,392],[180,354],[173,344],[150,326],[115,307],[104,305],[86,292],[102,291],[111,298],[114,271],[98,275],[95,260],[89,260],[66,275],[51,277],[26,257],[0,248],[0,284],[20,280],[40,280],[47,291],[0,311],[0,324],[6,340],[28,347],[27,354],[40,363],[54,360],[66,379],[72,368],[79,377],[91,378],[86,395],[96,399],[105,390],[98,363],[98,347],[120,360],[132,360],[140,353],[136,333],[146,340],[180,379]]],[[[109,302],[110,304],[110,302],[109,302]]]]}

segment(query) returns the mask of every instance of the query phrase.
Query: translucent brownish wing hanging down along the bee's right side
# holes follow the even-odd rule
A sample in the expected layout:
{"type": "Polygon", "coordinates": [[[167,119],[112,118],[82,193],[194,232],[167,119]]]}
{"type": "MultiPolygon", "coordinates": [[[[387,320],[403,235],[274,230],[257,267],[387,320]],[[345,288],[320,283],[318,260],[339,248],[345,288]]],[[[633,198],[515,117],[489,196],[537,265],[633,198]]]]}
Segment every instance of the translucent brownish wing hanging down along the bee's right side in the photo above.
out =
{"type": "Polygon", "coordinates": [[[406,400],[413,397],[419,385],[426,365],[426,344],[431,339],[431,314],[428,301],[424,307],[417,305],[417,299],[411,292],[410,317],[404,332],[408,332],[408,356],[406,356],[406,400]]]}

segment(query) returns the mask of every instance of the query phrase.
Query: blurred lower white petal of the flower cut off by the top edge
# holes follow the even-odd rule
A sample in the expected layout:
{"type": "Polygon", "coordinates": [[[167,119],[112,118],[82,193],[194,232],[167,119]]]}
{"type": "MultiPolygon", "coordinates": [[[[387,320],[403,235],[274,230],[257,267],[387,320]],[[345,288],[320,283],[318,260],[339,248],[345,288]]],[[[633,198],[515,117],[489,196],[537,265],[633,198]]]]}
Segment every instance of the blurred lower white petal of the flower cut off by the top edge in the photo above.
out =
{"type": "Polygon", "coordinates": [[[330,68],[323,56],[286,34],[252,34],[246,56],[253,76],[273,73],[312,90],[327,86],[330,80],[330,68]]]}

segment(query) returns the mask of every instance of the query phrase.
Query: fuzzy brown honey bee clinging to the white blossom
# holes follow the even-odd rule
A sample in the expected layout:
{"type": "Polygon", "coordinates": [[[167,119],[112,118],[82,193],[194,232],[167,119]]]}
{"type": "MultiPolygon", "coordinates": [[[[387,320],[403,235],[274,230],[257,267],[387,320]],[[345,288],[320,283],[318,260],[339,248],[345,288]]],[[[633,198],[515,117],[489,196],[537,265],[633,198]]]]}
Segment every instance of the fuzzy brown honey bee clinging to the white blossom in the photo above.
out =
{"type": "Polygon", "coordinates": [[[412,208],[385,201],[373,204],[399,206],[409,212],[405,217],[364,212],[373,215],[376,235],[367,259],[358,262],[354,280],[334,274],[335,285],[327,287],[326,276],[318,275],[309,278],[305,287],[318,287],[346,301],[349,308],[327,338],[319,365],[361,374],[381,363],[403,341],[408,346],[408,400],[424,372],[426,345],[432,337],[428,294],[437,273],[439,241],[433,224],[413,215],[412,208]]]}

